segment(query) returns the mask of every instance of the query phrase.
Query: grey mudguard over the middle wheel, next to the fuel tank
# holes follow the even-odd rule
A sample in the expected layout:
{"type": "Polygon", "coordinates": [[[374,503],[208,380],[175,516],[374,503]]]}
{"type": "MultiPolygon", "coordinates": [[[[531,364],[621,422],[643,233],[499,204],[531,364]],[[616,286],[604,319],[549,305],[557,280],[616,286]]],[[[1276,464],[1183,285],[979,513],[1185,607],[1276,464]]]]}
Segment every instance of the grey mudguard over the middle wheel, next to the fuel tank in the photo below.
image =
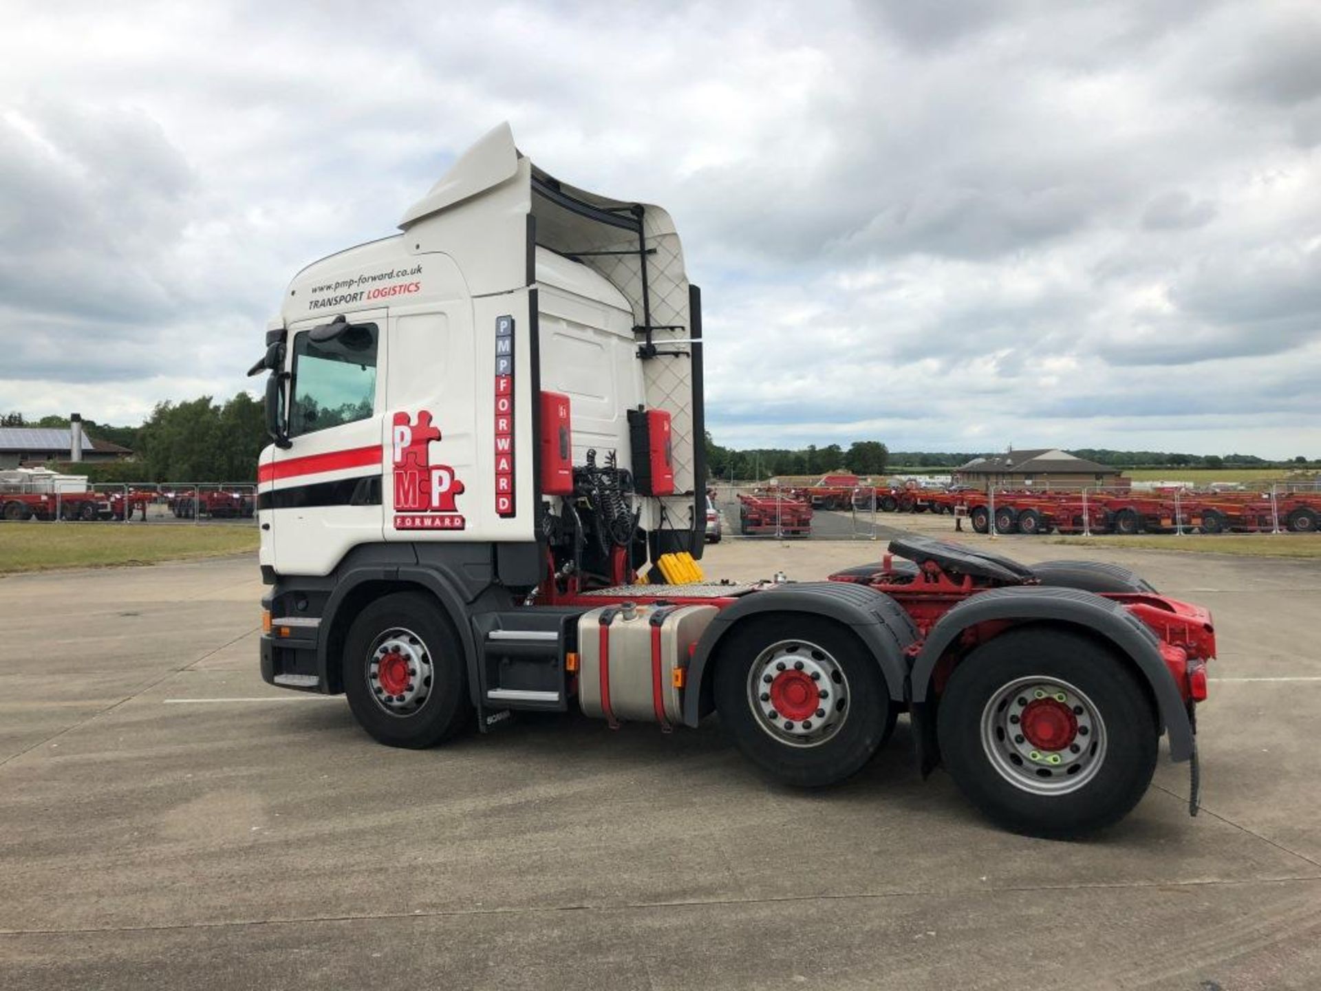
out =
{"type": "Polygon", "coordinates": [[[900,604],[884,592],[848,581],[786,583],[741,597],[707,626],[688,665],[690,687],[683,696],[686,725],[697,725],[711,711],[707,665],[720,641],[741,620],[762,613],[808,613],[848,626],[876,658],[890,698],[904,700],[908,675],[904,651],[917,642],[918,633],[900,604]]]}

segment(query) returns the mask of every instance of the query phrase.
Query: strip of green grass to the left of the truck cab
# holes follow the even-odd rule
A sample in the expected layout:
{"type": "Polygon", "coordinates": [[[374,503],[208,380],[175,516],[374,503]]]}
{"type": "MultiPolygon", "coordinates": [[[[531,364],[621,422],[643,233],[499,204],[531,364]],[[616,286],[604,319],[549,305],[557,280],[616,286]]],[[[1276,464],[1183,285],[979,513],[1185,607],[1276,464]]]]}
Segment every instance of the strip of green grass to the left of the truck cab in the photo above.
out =
{"type": "Polygon", "coordinates": [[[0,523],[0,575],[251,554],[256,546],[256,527],[242,523],[0,523]]]}

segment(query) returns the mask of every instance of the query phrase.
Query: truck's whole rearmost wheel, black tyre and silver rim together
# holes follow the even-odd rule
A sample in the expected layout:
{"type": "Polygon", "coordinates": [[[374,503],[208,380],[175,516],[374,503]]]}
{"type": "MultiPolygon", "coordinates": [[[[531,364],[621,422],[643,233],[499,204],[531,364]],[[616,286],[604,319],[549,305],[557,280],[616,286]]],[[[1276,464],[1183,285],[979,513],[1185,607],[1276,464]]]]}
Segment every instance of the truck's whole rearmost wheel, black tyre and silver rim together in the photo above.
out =
{"type": "Polygon", "coordinates": [[[1054,629],[1004,633],[970,654],[939,700],[945,766],[988,818],[1067,839],[1119,822],[1156,769],[1159,721],[1124,661],[1054,629]]]}

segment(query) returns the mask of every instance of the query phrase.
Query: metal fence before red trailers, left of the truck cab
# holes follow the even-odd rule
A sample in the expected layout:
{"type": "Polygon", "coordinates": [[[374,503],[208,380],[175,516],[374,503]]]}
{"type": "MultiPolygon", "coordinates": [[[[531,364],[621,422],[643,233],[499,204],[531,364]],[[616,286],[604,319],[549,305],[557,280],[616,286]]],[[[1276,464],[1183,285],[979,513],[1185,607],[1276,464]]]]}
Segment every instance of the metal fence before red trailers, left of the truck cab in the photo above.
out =
{"type": "Polygon", "coordinates": [[[61,488],[50,480],[0,481],[0,522],[203,525],[252,523],[252,482],[103,482],[61,488]]]}

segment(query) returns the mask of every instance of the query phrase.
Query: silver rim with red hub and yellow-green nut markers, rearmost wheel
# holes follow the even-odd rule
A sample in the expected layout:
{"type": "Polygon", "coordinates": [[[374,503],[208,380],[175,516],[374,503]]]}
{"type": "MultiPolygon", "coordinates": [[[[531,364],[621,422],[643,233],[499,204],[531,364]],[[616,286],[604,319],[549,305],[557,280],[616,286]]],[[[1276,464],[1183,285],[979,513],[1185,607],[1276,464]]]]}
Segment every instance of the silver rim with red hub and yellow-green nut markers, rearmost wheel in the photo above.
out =
{"type": "Polygon", "coordinates": [[[982,748],[991,766],[1015,788],[1036,795],[1063,795],[1086,786],[1100,772],[1106,723],[1077,686],[1048,675],[1017,678],[999,688],[982,711],[982,748]],[[1058,728],[1065,711],[1073,732],[1053,739],[1042,735],[1042,719],[1058,728]]]}

